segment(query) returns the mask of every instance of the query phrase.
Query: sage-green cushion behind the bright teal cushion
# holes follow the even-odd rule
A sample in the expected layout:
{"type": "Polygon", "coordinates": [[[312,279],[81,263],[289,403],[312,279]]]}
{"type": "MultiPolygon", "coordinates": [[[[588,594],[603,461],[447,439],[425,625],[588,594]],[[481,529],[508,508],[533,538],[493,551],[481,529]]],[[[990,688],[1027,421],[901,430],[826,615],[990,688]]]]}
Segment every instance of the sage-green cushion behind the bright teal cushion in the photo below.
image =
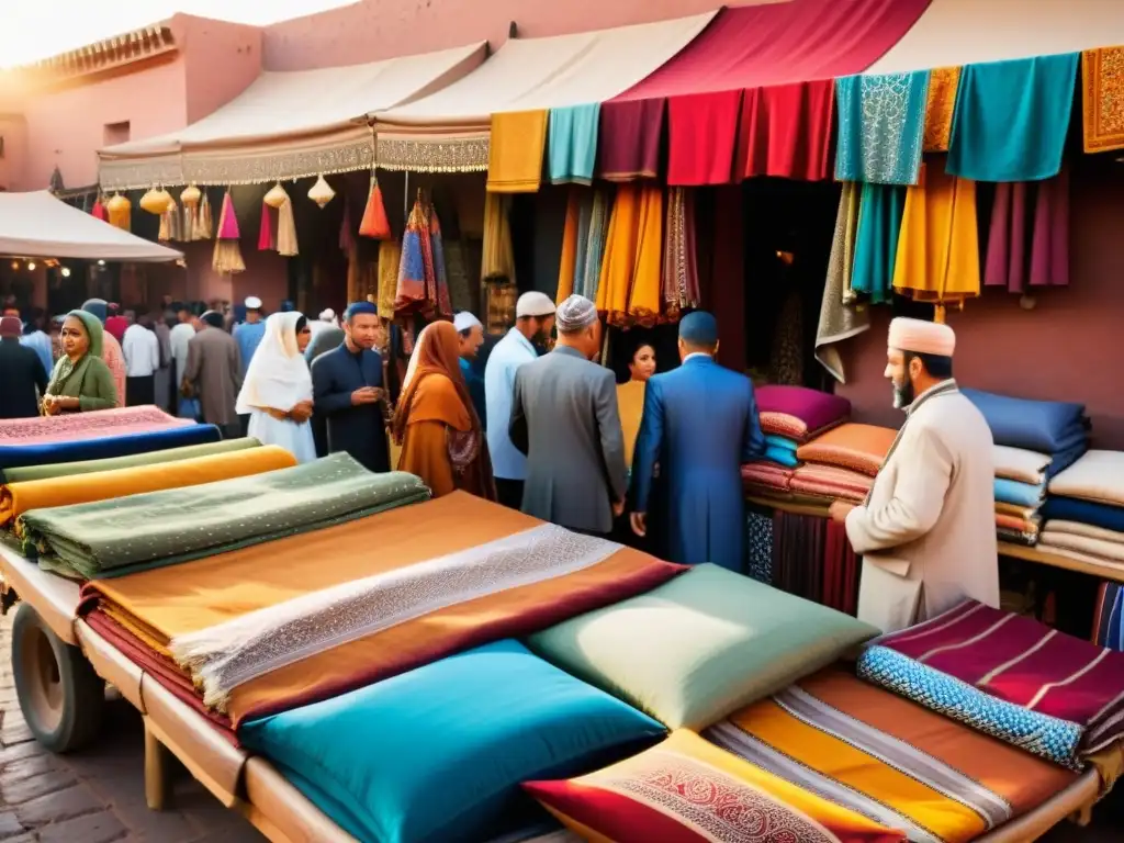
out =
{"type": "Polygon", "coordinates": [[[850,615],[704,564],[529,644],[670,728],[704,728],[874,635],[850,615]]]}

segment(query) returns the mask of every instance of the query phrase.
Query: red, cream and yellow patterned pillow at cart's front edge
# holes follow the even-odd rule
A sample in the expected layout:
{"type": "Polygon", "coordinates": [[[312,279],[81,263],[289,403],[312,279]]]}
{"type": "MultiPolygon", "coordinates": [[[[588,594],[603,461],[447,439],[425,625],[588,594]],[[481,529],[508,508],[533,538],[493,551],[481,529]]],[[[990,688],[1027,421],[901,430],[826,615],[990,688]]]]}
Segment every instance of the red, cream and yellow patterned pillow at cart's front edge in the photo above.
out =
{"type": "Polygon", "coordinates": [[[906,841],[686,729],[595,773],[523,787],[580,836],[605,843],[906,841]]]}

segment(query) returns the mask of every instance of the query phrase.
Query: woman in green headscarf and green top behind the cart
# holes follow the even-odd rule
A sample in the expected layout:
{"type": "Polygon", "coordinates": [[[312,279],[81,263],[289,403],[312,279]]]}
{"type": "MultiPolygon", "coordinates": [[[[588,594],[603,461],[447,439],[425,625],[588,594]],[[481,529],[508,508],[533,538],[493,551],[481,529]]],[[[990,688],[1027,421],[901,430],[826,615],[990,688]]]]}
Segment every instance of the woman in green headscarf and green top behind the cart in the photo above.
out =
{"type": "Polygon", "coordinates": [[[43,396],[43,413],[109,410],[120,406],[114,374],[101,359],[101,319],[85,310],[71,310],[63,321],[63,355],[55,363],[43,396]]]}

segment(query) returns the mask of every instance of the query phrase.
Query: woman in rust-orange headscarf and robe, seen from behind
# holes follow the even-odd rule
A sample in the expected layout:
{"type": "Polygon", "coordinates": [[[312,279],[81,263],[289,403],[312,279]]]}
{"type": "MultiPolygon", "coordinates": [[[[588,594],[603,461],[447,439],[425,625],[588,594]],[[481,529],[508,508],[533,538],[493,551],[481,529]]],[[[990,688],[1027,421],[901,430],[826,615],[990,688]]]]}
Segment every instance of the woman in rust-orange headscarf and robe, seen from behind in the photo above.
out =
{"type": "Polygon", "coordinates": [[[436,321],[418,335],[393,420],[399,471],[438,498],[457,489],[496,500],[491,457],[461,374],[456,328],[436,321]]]}

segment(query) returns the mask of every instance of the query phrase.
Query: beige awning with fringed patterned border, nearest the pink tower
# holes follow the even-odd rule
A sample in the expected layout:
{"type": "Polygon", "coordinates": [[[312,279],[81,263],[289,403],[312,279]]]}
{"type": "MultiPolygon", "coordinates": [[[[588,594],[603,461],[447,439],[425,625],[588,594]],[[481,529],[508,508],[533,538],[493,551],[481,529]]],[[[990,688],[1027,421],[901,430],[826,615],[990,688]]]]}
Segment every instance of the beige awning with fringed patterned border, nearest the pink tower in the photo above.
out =
{"type": "Polygon", "coordinates": [[[262,73],[198,123],[101,149],[101,185],[251,184],[365,170],[374,156],[368,112],[459,80],[480,65],[487,46],[481,42],[370,64],[262,73]]]}

